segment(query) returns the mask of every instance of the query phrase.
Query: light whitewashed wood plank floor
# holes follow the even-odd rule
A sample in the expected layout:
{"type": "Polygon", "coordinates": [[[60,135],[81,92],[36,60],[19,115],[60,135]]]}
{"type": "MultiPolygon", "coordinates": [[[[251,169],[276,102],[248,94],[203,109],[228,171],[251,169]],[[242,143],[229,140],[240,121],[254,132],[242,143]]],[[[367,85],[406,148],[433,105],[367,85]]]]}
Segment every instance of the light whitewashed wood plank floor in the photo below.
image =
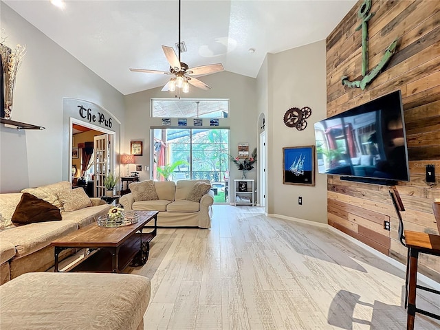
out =
{"type": "MultiPolygon", "coordinates": [[[[151,278],[144,329],[406,329],[404,272],[313,225],[214,206],[212,228],[160,229],[127,272],[151,278]]],[[[434,294],[419,308],[440,314],[434,294]]],[[[440,329],[416,316],[415,329],[440,329]]]]}

